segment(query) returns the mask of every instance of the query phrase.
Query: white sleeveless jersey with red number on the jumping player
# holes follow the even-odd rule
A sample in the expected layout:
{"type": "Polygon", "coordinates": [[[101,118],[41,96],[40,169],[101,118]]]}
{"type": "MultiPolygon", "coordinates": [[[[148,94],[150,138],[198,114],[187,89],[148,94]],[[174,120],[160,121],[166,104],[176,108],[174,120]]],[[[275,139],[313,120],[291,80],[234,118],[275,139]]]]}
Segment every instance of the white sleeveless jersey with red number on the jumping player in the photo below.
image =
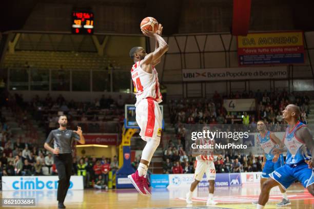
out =
{"type": "Polygon", "coordinates": [[[152,67],[152,73],[147,73],[141,68],[141,61],[137,61],[131,69],[133,85],[136,89],[135,107],[142,99],[152,98],[156,102],[162,102],[162,95],[159,90],[158,73],[152,67]]]}

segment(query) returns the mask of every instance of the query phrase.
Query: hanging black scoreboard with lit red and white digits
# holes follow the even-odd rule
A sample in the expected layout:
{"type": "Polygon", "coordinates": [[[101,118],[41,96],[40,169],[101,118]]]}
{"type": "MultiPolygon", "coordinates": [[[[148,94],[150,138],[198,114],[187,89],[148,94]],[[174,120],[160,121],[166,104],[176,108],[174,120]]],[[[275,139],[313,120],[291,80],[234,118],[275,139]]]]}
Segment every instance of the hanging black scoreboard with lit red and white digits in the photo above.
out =
{"type": "Polygon", "coordinates": [[[92,12],[72,12],[72,33],[93,34],[94,13],[92,12]]]}

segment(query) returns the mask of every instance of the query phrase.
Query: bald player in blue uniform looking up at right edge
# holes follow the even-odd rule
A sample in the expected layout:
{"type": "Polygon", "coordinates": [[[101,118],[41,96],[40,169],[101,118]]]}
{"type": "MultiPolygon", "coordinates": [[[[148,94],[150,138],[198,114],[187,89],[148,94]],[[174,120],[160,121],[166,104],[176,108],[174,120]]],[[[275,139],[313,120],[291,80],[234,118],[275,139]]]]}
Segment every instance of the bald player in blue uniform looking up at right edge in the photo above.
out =
{"type": "MultiPolygon", "coordinates": [[[[314,196],[314,139],[309,129],[299,121],[301,111],[296,105],[288,105],[282,112],[283,119],[288,123],[284,136],[287,148],[286,164],[272,172],[262,185],[257,205],[263,209],[269,198],[270,189],[282,185],[287,189],[299,180],[308,192],[314,196]]],[[[282,149],[274,149],[273,154],[280,154],[282,149]]]]}

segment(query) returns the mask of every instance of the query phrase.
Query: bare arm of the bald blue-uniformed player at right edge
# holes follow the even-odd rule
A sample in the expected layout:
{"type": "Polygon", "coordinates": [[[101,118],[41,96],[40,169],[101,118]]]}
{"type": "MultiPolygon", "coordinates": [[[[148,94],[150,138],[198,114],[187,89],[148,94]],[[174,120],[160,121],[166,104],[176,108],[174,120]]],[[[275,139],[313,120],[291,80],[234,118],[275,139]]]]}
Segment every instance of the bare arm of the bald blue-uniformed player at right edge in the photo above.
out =
{"type": "Polygon", "coordinates": [[[311,131],[307,127],[301,127],[296,131],[296,137],[301,139],[310,150],[312,159],[307,162],[308,168],[314,168],[314,139],[311,131]]]}

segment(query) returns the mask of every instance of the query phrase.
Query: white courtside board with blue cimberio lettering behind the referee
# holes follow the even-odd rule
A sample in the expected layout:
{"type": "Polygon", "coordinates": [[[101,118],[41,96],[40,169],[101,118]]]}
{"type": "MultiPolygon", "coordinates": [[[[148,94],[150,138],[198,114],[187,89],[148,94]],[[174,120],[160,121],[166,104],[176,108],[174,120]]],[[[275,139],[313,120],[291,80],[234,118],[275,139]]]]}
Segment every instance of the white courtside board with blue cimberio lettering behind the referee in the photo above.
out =
{"type": "MultiPolygon", "coordinates": [[[[2,190],[57,190],[58,176],[3,176],[2,190]]],[[[69,190],[83,190],[83,176],[71,176],[69,190]]]]}

